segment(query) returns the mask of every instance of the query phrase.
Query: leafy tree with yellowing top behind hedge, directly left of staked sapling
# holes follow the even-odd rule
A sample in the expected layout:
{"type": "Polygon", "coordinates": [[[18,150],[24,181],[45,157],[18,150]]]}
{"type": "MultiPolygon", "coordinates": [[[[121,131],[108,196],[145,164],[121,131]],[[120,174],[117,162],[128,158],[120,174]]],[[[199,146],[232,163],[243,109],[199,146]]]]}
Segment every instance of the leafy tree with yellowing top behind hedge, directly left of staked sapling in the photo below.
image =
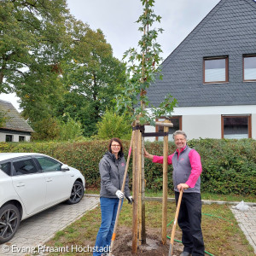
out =
{"type": "Polygon", "coordinates": [[[93,31],[79,24],[71,55],[63,68],[67,93],[60,113],[78,119],[84,136],[96,134],[96,123],[107,108],[112,108],[114,95],[125,82],[125,64],[113,57],[111,45],[101,30],[93,31]]]}

